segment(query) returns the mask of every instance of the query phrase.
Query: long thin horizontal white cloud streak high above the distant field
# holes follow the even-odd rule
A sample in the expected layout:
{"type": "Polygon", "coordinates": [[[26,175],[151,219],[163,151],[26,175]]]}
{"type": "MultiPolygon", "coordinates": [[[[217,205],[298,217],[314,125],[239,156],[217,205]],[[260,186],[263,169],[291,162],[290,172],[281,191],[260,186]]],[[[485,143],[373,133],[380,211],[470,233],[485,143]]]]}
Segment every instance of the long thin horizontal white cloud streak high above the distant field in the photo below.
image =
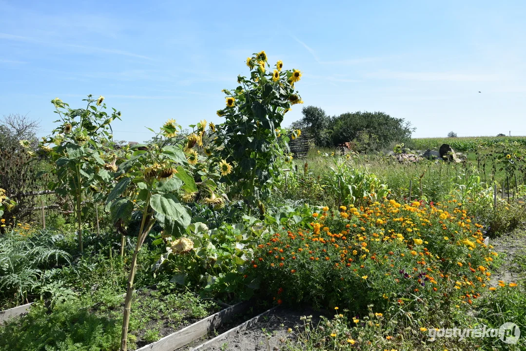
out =
{"type": "Polygon", "coordinates": [[[401,79],[422,82],[497,82],[508,80],[509,76],[497,73],[457,73],[457,72],[394,72],[380,71],[366,73],[366,77],[378,79],[401,79]]]}

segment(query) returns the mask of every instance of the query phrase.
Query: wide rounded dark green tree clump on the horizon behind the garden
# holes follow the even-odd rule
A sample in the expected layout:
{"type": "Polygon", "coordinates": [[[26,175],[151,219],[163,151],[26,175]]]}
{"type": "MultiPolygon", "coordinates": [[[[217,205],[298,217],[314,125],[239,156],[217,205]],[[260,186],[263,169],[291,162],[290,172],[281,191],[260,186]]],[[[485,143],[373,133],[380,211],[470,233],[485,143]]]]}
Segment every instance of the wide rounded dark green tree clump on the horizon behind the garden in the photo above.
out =
{"type": "Polygon", "coordinates": [[[393,142],[405,142],[414,131],[410,122],[383,112],[345,113],[333,117],[331,122],[332,142],[335,145],[355,142],[366,146],[361,151],[378,151],[393,142]]]}

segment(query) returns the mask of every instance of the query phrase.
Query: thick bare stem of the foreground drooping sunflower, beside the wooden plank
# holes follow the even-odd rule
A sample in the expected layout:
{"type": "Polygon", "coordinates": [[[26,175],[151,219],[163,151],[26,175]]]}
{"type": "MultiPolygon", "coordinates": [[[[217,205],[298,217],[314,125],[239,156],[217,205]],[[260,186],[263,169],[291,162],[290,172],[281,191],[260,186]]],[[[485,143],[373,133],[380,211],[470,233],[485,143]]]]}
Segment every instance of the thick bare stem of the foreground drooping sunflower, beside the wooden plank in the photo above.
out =
{"type": "Polygon", "coordinates": [[[137,245],[135,246],[135,251],[133,257],[131,257],[131,268],[128,276],[128,286],[126,289],[126,299],[124,300],[124,315],[123,315],[123,332],[120,339],[120,351],[127,350],[128,342],[128,325],[130,321],[130,310],[131,310],[131,298],[133,297],[133,281],[135,278],[135,271],[137,269],[137,255],[139,254],[140,247],[143,245],[146,235],[150,231],[151,227],[154,226],[155,220],[150,219],[148,225],[146,226],[146,218],[148,217],[148,207],[150,205],[151,193],[148,193],[146,199],[146,204],[143,210],[143,219],[140,223],[139,236],[137,237],[137,245]]]}

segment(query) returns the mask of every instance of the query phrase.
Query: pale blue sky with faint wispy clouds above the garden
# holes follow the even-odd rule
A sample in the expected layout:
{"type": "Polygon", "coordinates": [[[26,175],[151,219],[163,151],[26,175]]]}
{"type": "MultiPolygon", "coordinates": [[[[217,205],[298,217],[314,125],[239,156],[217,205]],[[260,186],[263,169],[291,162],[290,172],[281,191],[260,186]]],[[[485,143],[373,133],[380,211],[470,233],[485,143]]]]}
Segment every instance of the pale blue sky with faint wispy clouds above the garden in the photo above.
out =
{"type": "Polygon", "coordinates": [[[149,139],[168,118],[220,123],[221,89],[265,50],[330,115],[386,112],[414,137],[526,135],[525,13],[524,1],[0,0],[0,116],[40,119],[43,136],[51,99],[93,94],[122,111],[117,139],[149,139]]]}

